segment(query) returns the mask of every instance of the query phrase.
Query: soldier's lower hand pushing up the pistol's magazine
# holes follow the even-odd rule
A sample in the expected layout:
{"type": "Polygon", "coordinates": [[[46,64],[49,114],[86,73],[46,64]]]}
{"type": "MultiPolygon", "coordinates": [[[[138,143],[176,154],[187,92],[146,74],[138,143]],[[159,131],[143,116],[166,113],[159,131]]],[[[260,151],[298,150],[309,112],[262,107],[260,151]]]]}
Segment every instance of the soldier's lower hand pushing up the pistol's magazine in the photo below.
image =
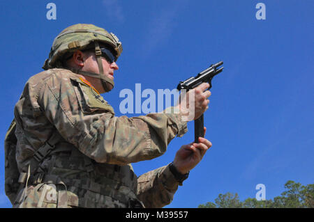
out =
{"type": "MultiPolygon", "coordinates": [[[[204,134],[206,127],[204,127],[204,134]]],[[[192,170],[204,157],[204,154],[211,148],[211,142],[206,138],[199,137],[200,143],[182,145],[174,157],[173,165],[182,174],[192,170]]]]}

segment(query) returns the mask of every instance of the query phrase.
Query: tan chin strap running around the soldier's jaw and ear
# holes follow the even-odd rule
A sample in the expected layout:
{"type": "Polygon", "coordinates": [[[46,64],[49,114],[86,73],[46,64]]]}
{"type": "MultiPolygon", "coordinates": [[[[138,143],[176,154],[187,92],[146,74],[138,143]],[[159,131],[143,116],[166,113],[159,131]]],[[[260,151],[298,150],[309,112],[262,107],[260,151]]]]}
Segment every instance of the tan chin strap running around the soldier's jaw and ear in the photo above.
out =
{"type": "Polygon", "coordinates": [[[103,84],[103,88],[104,88],[105,92],[107,93],[110,90],[112,90],[112,88],[114,88],[114,81],[112,79],[106,77],[105,74],[103,73],[103,63],[101,62],[101,51],[100,51],[100,47],[99,47],[98,42],[95,42],[95,54],[96,54],[99,74],[97,74],[95,72],[87,72],[87,71],[77,70],[74,68],[66,68],[66,69],[71,70],[72,72],[75,72],[77,74],[84,74],[84,75],[89,76],[89,77],[94,77],[94,78],[100,79],[101,84],[103,84]],[[108,84],[110,84],[112,87],[110,88],[110,86],[108,86],[108,84]]]}

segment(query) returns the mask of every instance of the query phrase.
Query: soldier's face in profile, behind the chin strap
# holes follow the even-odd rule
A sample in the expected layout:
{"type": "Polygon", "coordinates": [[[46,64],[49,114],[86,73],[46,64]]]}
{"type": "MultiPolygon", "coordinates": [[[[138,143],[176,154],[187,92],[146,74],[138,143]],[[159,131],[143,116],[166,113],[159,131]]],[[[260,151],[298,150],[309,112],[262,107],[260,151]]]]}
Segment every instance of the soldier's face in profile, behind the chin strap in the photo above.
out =
{"type": "MultiPolygon", "coordinates": [[[[82,67],[82,71],[99,73],[98,63],[94,51],[91,52],[88,51],[86,53],[83,53],[83,58],[84,66],[82,67]]],[[[108,63],[104,57],[101,57],[101,61],[103,63],[103,72],[105,76],[114,80],[114,70],[119,69],[117,63],[115,62],[108,63]]],[[[85,78],[96,88],[96,90],[98,90],[99,93],[105,93],[105,90],[103,89],[103,85],[101,84],[100,79],[94,77],[85,78]]],[[[110,84],[107,85],[110,87],[111,90],[112,86],[110,84]]]]}

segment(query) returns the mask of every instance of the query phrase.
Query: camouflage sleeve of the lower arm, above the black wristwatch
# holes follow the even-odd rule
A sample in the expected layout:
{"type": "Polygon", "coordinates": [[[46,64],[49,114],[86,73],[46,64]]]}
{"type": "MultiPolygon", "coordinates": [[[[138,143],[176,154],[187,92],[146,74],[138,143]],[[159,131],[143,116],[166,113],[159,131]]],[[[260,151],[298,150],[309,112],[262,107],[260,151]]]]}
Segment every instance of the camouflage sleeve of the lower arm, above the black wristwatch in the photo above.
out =
{"type": "Polygon", "coordinates": [[[137,178],[137,197],[145,207],[164,207],[172,202],[178,186],[169,166],[163,166],[137,178]]]}

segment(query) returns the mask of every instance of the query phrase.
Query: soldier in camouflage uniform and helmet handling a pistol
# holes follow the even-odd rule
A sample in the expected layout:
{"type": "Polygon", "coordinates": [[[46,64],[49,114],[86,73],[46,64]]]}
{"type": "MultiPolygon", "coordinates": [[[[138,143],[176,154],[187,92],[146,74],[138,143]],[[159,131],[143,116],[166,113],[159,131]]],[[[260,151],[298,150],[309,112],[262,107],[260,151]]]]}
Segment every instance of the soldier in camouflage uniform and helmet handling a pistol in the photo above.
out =
{"type": "MultiPolygon", "coordinates": [[[[114,116],[100,93],[114,87],[121,52],[113,33],[92,24],[75,24],[54,39],[6,136],[13,145],[16,125],[20,189],[13,207],[163,207],[211,147],[200,138],[183,145],[171,164],[135,175],[130,163],[160,156],[187,125],[181,104],[172,112],[114,116]]],[[[194,90],[195,118],[208,108],[208,87],[194,90]]]]}

